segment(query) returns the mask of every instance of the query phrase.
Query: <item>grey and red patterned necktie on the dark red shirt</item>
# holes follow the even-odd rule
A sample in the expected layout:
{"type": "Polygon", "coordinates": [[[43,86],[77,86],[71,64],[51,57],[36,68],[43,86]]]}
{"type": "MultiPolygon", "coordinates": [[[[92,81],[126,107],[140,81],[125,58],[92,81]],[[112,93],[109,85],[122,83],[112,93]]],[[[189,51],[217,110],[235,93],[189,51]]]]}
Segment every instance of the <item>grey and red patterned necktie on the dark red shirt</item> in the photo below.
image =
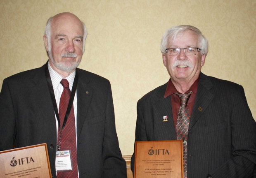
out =
{"type": "Polygon", "coordinates": [[[184,178],[187,178],[187,133],[188,127],[190,124],[190,111],[187,108],[188,99],[190,99],[190,95],[192,91],[187,94],[179,94],[175,92],[175,95],[180,97],[180,110],[178,113],[177,119],[177,140],[183,140],[183,169],[184,169],[184,178]]]}

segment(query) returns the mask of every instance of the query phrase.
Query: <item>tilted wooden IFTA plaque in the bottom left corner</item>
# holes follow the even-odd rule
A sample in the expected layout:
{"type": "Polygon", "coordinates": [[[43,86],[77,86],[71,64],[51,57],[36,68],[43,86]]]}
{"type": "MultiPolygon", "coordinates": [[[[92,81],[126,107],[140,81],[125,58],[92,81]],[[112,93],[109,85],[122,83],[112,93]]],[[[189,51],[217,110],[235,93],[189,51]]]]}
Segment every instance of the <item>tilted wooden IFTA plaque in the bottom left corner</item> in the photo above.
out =
{"type": "Polygon", "coordinates": [[[46,143],[1,151],[0,178],[52,178],[46,143]]]}

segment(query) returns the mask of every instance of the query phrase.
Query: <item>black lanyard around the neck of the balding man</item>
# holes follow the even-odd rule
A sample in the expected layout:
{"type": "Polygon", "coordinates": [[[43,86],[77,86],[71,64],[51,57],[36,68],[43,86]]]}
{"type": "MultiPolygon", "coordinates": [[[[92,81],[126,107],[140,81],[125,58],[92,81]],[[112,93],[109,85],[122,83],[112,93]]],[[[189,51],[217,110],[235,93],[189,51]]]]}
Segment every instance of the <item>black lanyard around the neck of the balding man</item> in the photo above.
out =
{"type": "Polygon", "coordinates": [[[77,71],[76,71],[76,76],[75,76],[75,79],[74,79],[74,82],[73,82],[72,91],[71,91],[70,98],[69,98],[69,104],[68,104],[68,108],[66,110],[66,114],[65,114],[65,117],[64,117],[62,127],[60,127],[59,112],[58,112],[58,107],[57,107],[55,94],[54,94],[54,90],[53,90],[53,86],[52,86],[52,80],[51,80],[50,72],[49,72],[49,69],[48,69],[48,62],[45,65],[45,77],[46,77],[46,81],[47,81],[47,84],[48,84],[50,96],[51,96],[51,99],[52,99],[52,105],[53,105],[55,115],[56,115],[56,118],[57,118],[58,124],[59,124],[59,144],[57,144],[57,150],[60,150],[61,139],[62,139],[61,133],[62,133],[62,130],[64,129],[64,127],[66,125],[66,121],[69,118],[69,113],[70,113],[72,105],[73,105],[73,100],[74,100],[74,97],[75,97],[75,94],[76,94],[76,86],[77,86],[77,83],[78,83],[78,74],[77,74],[77,71]]]}

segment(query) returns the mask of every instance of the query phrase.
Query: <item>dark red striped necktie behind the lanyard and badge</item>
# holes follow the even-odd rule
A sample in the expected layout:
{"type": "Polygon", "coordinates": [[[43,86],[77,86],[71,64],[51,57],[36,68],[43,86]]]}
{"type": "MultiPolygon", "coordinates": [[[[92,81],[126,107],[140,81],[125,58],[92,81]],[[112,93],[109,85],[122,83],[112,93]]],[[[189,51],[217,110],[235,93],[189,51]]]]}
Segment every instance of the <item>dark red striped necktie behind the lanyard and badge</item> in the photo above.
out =
{"type": "MultiPolygon", "coordinates": [[[[69,82],[66,79],[62,79],[60,82],[64,87],[62,95],[59,101],[59,120],[62,128],[63,121],[65,118],[66,110],[69,104],[69,98],[71,91],[69,89],[69,82]]],[[[69,113],[69,118],[66,122],[64,129],[61,132],[61,150],[71,150],[71,159],[73,165],[73,171],[57,172],[57,178],[78,178],[77,171],[77,153],[76,153],[76,125],[73,105],[69,113]]],[[[59,138],[59,129],[58,129],[59,138]]]]}

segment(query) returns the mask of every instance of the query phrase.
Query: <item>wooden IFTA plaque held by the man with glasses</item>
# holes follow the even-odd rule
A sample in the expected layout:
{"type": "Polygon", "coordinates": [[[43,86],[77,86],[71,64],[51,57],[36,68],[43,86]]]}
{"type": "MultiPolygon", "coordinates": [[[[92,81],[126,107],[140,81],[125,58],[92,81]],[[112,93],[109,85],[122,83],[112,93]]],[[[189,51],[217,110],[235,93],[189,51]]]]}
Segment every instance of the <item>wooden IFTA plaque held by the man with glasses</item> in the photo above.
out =
{"type": "Polygon", "coordinates": [[[183,178],[183,141],[136,141],[134,178],[183,178]]]}

